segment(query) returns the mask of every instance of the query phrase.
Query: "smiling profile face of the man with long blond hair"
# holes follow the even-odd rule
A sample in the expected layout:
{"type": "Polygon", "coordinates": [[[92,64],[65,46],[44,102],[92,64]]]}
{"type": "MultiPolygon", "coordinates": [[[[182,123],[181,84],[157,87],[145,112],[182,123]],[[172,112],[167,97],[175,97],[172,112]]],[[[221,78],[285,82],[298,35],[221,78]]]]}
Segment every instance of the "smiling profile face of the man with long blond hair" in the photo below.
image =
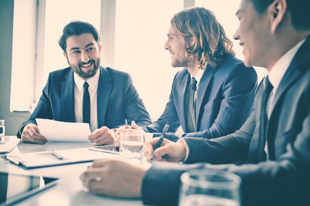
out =
{"type": "Polygon", "coordinates": [[[168,40],[166,41],[164,48],[171,54],[171,66],[172,67],[188,67],[191,59],[186,52],[186,40],[175,29],[170,26],[168,31],[168,40]]]}

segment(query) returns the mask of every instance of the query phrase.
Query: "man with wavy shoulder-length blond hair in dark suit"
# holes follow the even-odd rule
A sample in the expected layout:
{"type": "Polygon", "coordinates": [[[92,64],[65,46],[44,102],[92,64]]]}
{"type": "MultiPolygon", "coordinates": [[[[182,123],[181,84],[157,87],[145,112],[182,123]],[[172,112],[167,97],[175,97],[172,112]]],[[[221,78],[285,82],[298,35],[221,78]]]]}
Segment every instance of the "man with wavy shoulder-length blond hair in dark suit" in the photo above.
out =
{"type": "MultiPolygon", "coordinates": [[[[173,67],[186,69],[175,75],[162,115],[142,128],[155,137],[165,124],[170,125],[169,132],[175,132],[181,124],[186,133],[183,136],[207,139],[239,129],[253,109],[257,87],[254,68],[246,68],[235,57],[233,44],[212,11],[202,7],[185,9],[176,13],[170,23],[164,48],[171,54],[173,67]]],[[[177,136],[169,134],[166,138],[176,140],[177,136]]]]}

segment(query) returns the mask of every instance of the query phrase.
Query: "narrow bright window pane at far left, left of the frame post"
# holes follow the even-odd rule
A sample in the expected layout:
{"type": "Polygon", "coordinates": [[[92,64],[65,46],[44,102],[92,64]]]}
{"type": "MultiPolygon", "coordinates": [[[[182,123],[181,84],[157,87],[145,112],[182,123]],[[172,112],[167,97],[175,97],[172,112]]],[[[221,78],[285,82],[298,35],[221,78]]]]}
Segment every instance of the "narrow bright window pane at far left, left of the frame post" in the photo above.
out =
{"type": "Polygon", "coordinates": [[[34,100],[36,9],[37,0],[14,0],[11,111],[29,109],[34,100]]]}

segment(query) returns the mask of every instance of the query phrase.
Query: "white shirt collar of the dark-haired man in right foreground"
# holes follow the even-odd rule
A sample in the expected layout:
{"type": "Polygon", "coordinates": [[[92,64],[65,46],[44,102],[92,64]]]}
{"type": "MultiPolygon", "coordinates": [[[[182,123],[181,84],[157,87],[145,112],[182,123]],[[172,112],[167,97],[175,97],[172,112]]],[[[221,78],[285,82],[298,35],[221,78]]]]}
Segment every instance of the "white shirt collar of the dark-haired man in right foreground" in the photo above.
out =
{"type": "Polygon", "coordinates": [[[289,68],[296,52],[300,46],[306,41],[306,38],[299,41],[295,46],[293,46],[288,52],[286,52],[271,68],[268,78],[274,89],[278,89],[279,84],[289,68]]]}

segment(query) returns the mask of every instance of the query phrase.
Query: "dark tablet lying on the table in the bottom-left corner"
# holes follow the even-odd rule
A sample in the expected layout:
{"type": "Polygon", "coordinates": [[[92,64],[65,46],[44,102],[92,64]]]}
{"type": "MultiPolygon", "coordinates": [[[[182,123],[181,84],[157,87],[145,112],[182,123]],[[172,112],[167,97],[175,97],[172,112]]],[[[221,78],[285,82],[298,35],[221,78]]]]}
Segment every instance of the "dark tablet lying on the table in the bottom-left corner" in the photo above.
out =
{"type": "Polygon", "coordinates": [[[0,206],[9,206],[42,191],[58,178],[0,172],[0,206]]]}

